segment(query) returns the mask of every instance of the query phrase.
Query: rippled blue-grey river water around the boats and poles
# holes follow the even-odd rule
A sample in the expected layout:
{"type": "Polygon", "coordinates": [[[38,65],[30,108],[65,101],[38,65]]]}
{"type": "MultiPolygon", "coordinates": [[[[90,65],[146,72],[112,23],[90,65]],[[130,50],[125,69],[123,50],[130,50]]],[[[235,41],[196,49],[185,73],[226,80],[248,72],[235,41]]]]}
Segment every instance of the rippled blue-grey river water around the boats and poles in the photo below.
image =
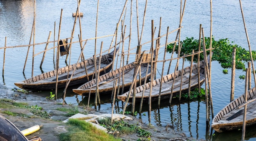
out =
{"type": "MultiPolygon", "coordinates": [[[[132,43],[131,48],[137,46],[137,20],[136,20],[136,3],[132,2],[132,43]]],[[[252,50],[256,50],[256,20],[255,20],[255,7],[256,1],[246,0],[242,2],[243,12],[245,15],[245,22],[247,31],[251,43],[252,50]]],[[[139,32],[141,32],[143,14],[144,14],[145,1],[139,1],[139,32]]],[[[240,4],[238,0],[225,0],[225,1],[213,1],[213,36],[215,40],[228,38],[230,41],[234,41],[234,44],[238,44],[243,48],[248,49],[247,38],[245,34],[245,27],[243,24],[242,14],[240,10],[240,4]]],[[[116,29],[117,22],[120,18],[121,11],[124,7],[124,0],[115,1],[100,1],[98,11],[98,24],[97,24],[97,37],[111,35],[116,29]]],[[[49,31],[52,31],[50,40],[58,39],[59,23],[61,9],[63,9],[60,38],[65,39],[71,36],[71,32],[74,24],[74,17],[72,13],[76,11],[76,0],[52,0],[36,1],[36,26],[35,26],[35,43],[46,42],[49,31]],[[54,32],[55,22],[55,32],[54,32]]],[[[92,0],[82,1],[80,5],[80,11],[83,12],[81,18],[81,31],[83,39],[90,39],[95,37],[96,27],[96,15],[97,15],[97,1],[92,0]]],[[[148,1],[146,9],[145,26],[142,35],[141,43],[151,40],[151,20],[154,20],[154,26],[156,32],[159,31],[159,19],[162,17],[161,34],[166,33],[167,26],[170,27],[169,31],[178,28],[180,23],[180,1],[179,0],[154,0],[148,1]]],[[[34,1],[31,0],[0,0],[0,47],[4,46],[5,37],[7,37],[6,46],[17,46],[29,44],[31,36],[31,28],[34,18],[34,1]]],[[[124,17],[122,17],[124,20],[124,17]]],[[[127,4],[126,17],[124,25],[126,27],[126,36],[129,34],[130,29],[130,1],[127,4]]],[[[193,0],[187,1],[185,7],[185,14],[182,21],[181,40],[185,37],[199,37],[199,26],[202,24],[204,28],[204,34],[206,37],[210,35],[210,2],[209,0],[193,0]]],[[[119,26],[119,32],[121,27],[119,26]]],[[[76,24],[74,31],[74,40],[78,41],[79,21],[76,24]]],[[[120,38],[120,35],[117,35],[120,38]]],[[[157,35],[157,34],[156,34],[157,35]]],[[[168,42],[175,40],[176,33],[170,34],[168,42]]],[[[111,44],[112,37],[104,37],[97,39],[97,53],[99,53],[100,44],[103,42],[103,51],[108,49],[111,44]]],[[[95,40],[89,40],[85,47],[85,58],[92,57],[94,54],[94,42],[95,40]]],[[[33,38],[31,40],[33,43],[33,38]]],[[[161,44],[165,43],[165,37],[162,38],[161,44]]],[[[53,44],[49,44],[49,48],[53,44]]],[[[127,50],[128,41],[125,41],[125,48],[127,50]]],[[[150,44],[142,46],[142,50],[148,50],[150,44]]],[[[32,46],[29,50],[29,57],[24,74],[22,73],[27,47],[19,48],[7,48],[4,66],[4,77],[0,77],[0,93],[6,93],[6,89],[11,90],[16,87],[14,82],[20,82],[25,78],[31,77],[32,70],[32,46]]],[[[43,51],[44,45],[35,46],[35,53],[43,51]]],[[[160,58],[163,56],[162,48],[160,58]]],[[[38,75],[42,72],[51,71],[54,69],[54,51],[47,51],[45,61],[42,69],[39,68],[43,54],[37,55],[34,58],[34,75],[38,75]]],[[[0,70],[2,70],[4,49],[0,49],[0,70]]],[[[72,45],[70,63],[76,63],[80,54],[79,44],[72,45]]],[[[168,54],[167,57],[170,57],[168,54]]],[[[56,59],[56,55],[55,55],[56,59]]],[[[131,55],[129,61],[134,60],[131,55]]],[[[65,56],[60,58],[60,67],[65,66],[65,56]]],[[[161,72],[162,64],[158,63],[158,71],[161,72]]],[[[186,62],[185,65],[189,65],[186,62]]],[[[165,65],[168,67],[168,65],[165,65]]],[[[172,69],[173,70],[172,65],[172,69]]],[[[165,71],[167,68],[165,68],[165,71]]],[[[228,69],[229,74],[224,75],[222,73],[223,68],[216,61],[212,62],[212,98],[214,114],[217,114],[224,106],[229,103],[230,87],[231,87],[231,69],[228,69]]],[[[236,70],[235,79],[235,98],[244,93],[245,83],[239,79],[239,75],[244,75],[245,72],[236,70]]],[[[159,77],[159,73],[157,74],[159,77]]],[[[253,80],[252,80],[253,81],[253,80]]],[[[254,83],[253,83],[254,84],[254,83]]],[[[204,85],[202,86],[204,88],[204,85]]],[[[61,95],[63,90],[58,90],[58,95],[61,95]]],[[[48,96],[48,92],[35,92],[31,95],[48,96]]],[[[108,97],[101,97],[101,100],[105,104],[101,104],[101,110],[110,112],[111,105],[109,104],[108,97]],[[106,101],[103,101],[105,100],[106,101]]],[[[66,102],[68,104],[86,104],[86,97],[77,96],[72,93],[72,90],[67,91],[66,102]],[[83,99],[83,100],[82,100],[83,99]]],[[[116,106],[115,112],[120,112],[121,102],[116,106]]],[[[193,101],[190,103],[184,103],[180,105],[168,106],[168,101],[161,102],[160,109],[154,109],[151,111],[151,123],[155,126],[166,126],[167,124],[173,125],[175,130],[184,132],[188,137],[195,139],[206,139],[214,141],[234,141],[241,139],[241,131],[218,133],[214,130],[207,131],[206,126],[206,109],[205,102],[193,101]],[[166,103],[166,104],[165,104],[166,103]]],[[[148,112],[146,106],[144,107],[141,119],[143,122],[148,123],[148,112]],[[145,115],[145,116],[144,116],[145,115]]],[[[138,117],[139,118],[139,117],[138,117]]],[[[211,122],[211,121],[210,121],[211,122]]],[[[249,128],[246,130],[246,140],[256,140],[256,129],[249,128]]]]}

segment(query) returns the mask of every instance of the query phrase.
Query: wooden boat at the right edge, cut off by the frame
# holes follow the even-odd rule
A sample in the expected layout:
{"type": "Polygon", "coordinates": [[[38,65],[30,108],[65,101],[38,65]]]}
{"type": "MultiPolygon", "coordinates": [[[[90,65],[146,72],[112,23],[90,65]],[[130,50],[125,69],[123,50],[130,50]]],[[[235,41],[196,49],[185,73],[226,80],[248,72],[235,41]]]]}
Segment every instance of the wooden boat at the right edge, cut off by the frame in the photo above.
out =
{"type": "MultiPolygon", "coordinates": [[[[247,105],[246,126],[252,126],[256,124],[256,87],[248,90],[247,100],[250,102],[247,105]]],[[[244,102],[245,95],[241,95],[231,101],[213,118],[211,128],[217,132],[242,129],[244,115],[244,107],[242,105],[244,102]]]]}

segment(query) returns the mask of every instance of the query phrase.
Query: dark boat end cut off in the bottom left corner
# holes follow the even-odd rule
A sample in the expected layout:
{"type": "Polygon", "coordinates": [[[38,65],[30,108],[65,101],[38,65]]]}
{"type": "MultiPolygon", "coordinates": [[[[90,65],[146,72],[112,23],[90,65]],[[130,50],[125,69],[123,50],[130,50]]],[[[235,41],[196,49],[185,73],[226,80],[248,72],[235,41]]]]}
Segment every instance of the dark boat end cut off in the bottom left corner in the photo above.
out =
{"type": "Polygon", "coordinates": [[[0,115],[0,141],[29,141],[8,119],[0,115]]]}

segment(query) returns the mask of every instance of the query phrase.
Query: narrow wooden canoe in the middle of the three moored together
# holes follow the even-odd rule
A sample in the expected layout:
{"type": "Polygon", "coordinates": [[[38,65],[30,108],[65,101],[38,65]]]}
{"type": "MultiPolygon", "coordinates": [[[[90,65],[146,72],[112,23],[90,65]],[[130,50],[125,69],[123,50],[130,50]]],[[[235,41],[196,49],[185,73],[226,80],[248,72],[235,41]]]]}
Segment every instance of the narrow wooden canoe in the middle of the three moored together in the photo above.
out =
{"type": "MultiPolygon", "coordinates": [[[[124,90],[128,90],[130,88],[130,85],[132,84],[132,79],[133,79],[133,74],[135,70],[135,64],[134,62],[116,69],[115,71],[110,71],[109,73],[106,73],[104,75],[101,75],[99,77],[99,93],[100,95],[103,94],[109,94],[112,92],[114,88],[117,88],[119,85],[120,90],[122,87],[124,87],[124,90]],[[123,68],[124,68],[124,74],[123,74],[123,68]],[[124,75],[124,84],[123,84],[123,75],[124,75]],[[116,76],[116,77],[115,77],[116,76]],[[120,83],[119,82],[120,78],[120,83]],[[114,86],[114,83],[117,81],[117,86],[114,86]]],[[[150,68],[148,69],[148,74],[146,75],[146,70],[147,70],[147,65],[146,64],[141,64],[141,73],[137,75],[137,84],[139,84],[141,80],[141,84],[144,84],[144,80],[150,78],[150,68]],[[141,76],[141,78],[139,78],[141,76]]],[[[77,93],[79,95],[88,95],[90,93],[95,94],[96,93],[96,79],[92,79],[91,81],[83,84],[77,89],[73,89],[74,93],[77,93]],[[92,88],[90,88],[92,85],[92,88]]]]}

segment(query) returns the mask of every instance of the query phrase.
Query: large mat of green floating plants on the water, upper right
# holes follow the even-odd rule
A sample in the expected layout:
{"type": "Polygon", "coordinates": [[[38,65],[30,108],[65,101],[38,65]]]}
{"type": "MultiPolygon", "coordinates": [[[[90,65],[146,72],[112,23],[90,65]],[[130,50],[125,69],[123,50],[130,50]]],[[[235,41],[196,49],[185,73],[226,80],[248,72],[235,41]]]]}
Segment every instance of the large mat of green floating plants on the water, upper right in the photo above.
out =
{"type": "MultiPolygon", "coordinates": [[[[209,48],[210,46],[210,37],[204,37],[206,48],[209,48]]],[[[203,50],[203,42],[202,39],[200,50],[203,50]]],[[[194,37],[188,38],[186,37],[185,40],[181,41],[182,43],[182,49],[181,49],[181,55],[183,54],[189,54],[192,53],[192,50],[198,51],[199,47],[199,40],[194,39],[194,37]]],[[[173,51],[174,44],[169,44],[167,46],[167,51],[172,52],[173,51]]],[[[178,45],[175,45],[175,51],[177,53],[178,45]]],[[[230,42],[227,38],[226,39],[220,39],[220,40],[214,40],[214,37],[212,37],[212,48],[214,48],[212,60],[216,60],[220,63],[222,68],[231,68],[232,67],[232,52],[233,48],[236,48],[236,69],[242,69],[245,71],[245,62],[251,61],[250,53],[249,51],[245,50],[245,48],[242,48],[241,46],[238,46],[237,44],[234,44],[234,42],[230,42]]],[[[208,53],[209,54],[209,51],[208,53]]],[[[256,51],[252,51],[252,57],[253,60],[256,60],[256,51]]],[[[198,55],[195,55],[194,59],[197,61],[198,55]]],[[[187,57],[186,59],[191,59],[191,57],[187,57]]],[[[203,53],[200,53],[200,60],[203,59],[203,53]]],[[[194,61],[195,61],[194,60],[194,61]]],[[[191,61],[191,60],[190,60],[191,61]]],[[[227,74],[227,71],[223,71],[223,73],[227,74]]]]}

